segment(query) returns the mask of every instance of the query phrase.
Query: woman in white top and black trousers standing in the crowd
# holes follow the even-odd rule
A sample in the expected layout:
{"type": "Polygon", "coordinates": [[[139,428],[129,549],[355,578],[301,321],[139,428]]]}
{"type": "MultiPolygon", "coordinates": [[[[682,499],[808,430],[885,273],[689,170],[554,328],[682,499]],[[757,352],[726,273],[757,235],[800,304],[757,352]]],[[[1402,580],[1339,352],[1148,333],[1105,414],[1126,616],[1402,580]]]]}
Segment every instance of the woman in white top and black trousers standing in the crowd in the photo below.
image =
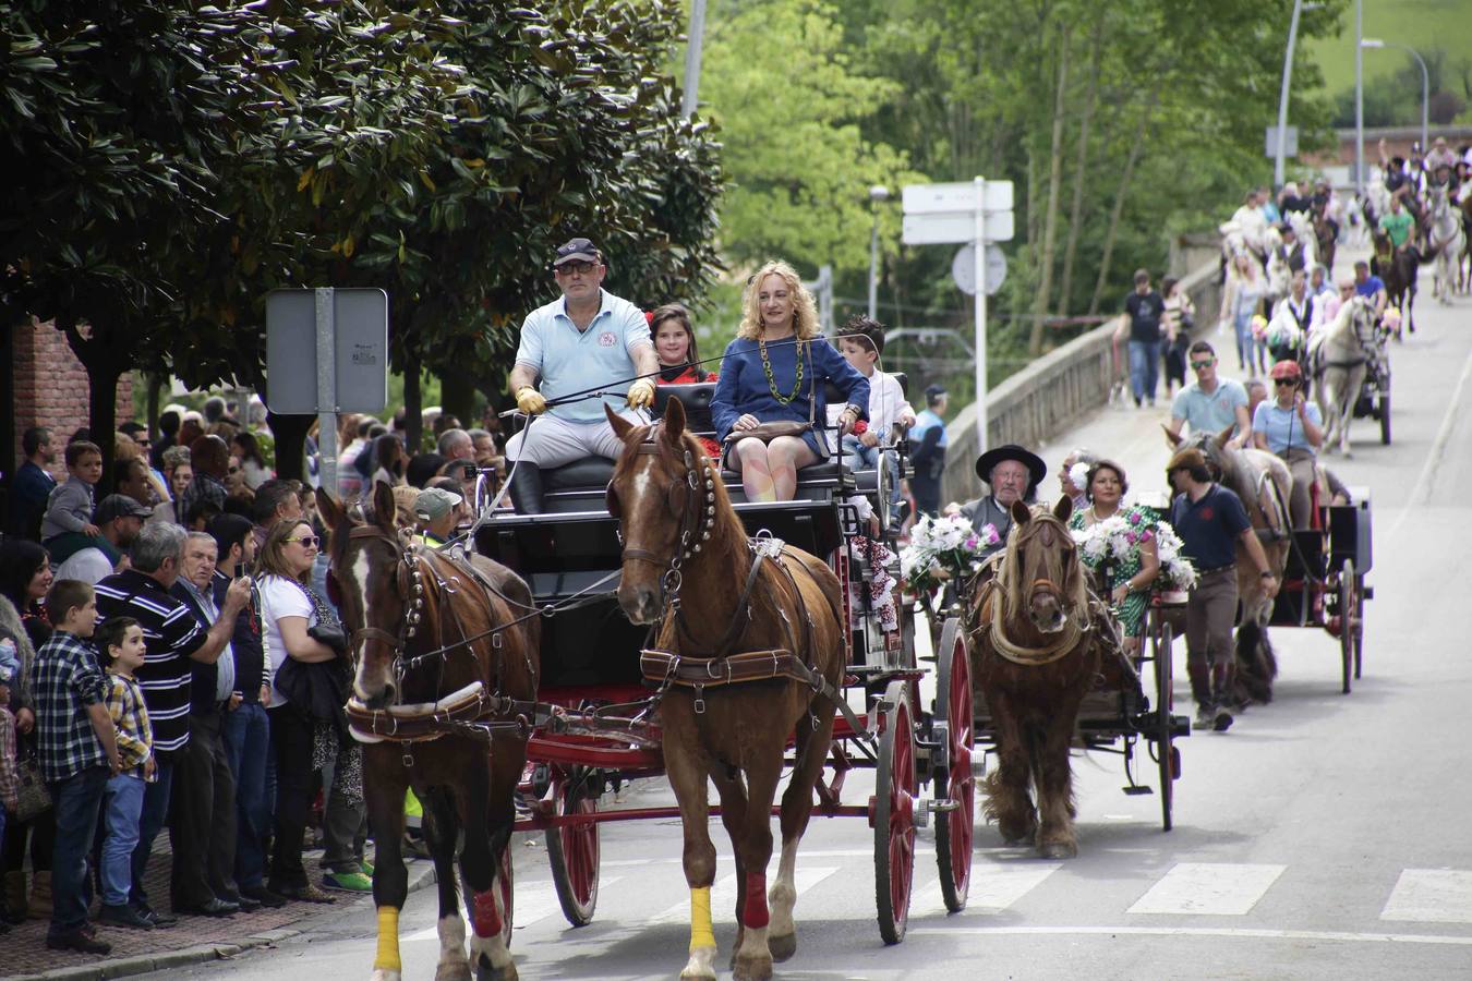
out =
{"type": "Polygon", "coordinates": [[[271,663],[271,746],[275,753],[277,803],[275,850],[266,888],[277,896],[308,903],[331,903],[333,897],[312,884],[302,866],[302,838],[311,805],[316,719],[308,706],[287,700],[277,687],[281,666],[325,665],[337,652],[312,637],[314,627],[331,624],[331,612],[308,588],[318,538],[306,521],[280,521],[271,528],[256,563],[261,588],[261,621],[266,632],[271,663]]]}

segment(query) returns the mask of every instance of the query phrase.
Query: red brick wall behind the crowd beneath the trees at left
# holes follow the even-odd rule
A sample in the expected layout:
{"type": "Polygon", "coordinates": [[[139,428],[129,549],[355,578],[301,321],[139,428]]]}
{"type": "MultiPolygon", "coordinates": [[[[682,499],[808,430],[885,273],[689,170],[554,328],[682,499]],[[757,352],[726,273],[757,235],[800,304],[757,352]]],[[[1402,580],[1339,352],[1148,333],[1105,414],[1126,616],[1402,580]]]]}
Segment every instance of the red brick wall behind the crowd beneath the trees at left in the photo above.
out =
{"type": "MultiPolygon", "coordinates": [[[[50,322],[15,331],[15,449],[21,434],[34,425],[52,429],[56,447],[53,471],[66,477],[62,447],[87,425],[87,369],[72,353],[66,337],[50,322]]],[[[118,422],[132,418],[132,377],[118,379],[118,422]]]]}

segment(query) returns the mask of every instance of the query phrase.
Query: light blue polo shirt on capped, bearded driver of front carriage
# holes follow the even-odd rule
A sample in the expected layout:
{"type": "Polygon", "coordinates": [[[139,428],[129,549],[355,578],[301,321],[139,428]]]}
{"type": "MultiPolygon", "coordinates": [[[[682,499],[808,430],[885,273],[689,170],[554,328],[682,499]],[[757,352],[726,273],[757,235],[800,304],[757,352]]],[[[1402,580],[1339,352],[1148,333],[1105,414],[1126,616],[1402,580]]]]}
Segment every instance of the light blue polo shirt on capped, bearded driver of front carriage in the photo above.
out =
{"type": "MultiPolygon", "coordinates": [[[[637,374],[633,350],[654,344],[643,310],[606,290],[599,290],[599,297],[602,306],[586,331],[567,315],[567,297],[537,307],[521,322],[517,363],[536,369],[542,377],[537,391],[548,402],[587,388],[627,393],[637,374]]],[[[564,422],[602,422],[605,402],[615,412],[626,407],[621,397],[605,396],[553,406],[548,413],[564,422]]]]}

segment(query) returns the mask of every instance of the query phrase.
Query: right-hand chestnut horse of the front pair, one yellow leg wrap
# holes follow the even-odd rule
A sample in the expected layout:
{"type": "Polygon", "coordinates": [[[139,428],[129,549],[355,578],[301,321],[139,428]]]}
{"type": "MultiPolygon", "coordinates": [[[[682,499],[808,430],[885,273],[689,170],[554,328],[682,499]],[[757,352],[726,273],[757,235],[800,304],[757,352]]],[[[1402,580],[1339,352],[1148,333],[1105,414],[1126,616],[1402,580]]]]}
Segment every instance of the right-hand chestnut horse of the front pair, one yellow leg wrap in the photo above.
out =
{"type": "Polygon", "coordinates": [[[631,622],[657,627],[640,666],[661,685],[665,772],[684,827],[690,949],[680,977],[715,977],[710,780],[736,857],[732,968],[737,980],[770,978],[773,962],[796,952],[798,843],[842,700],[839,579],[813,554],[746,537],[715,462],[686,431],[679,399],[652,425],[612,412],[608,419],[624,443],[608,482],[608,512],[624,543],[618,603],[631,622]],[[796,762],[782,796],[782,859],[768,897],[771,805],[789,737],[796,762]]]}

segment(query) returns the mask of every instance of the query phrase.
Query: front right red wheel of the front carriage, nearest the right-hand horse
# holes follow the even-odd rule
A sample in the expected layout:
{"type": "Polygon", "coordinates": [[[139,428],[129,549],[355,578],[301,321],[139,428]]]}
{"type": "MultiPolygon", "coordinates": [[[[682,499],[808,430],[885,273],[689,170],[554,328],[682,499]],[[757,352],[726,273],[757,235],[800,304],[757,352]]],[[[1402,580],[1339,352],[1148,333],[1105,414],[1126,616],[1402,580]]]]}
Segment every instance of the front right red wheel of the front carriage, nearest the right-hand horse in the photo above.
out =
{"type": "Polygon", "coordinates": [[[874,771],[874,902],[879,935],[886,944],[905,938],[910,888],[916,872],[916,738],[908,688],[894,681],[874,707],[880,713],[879,757],[874,771]]]}

